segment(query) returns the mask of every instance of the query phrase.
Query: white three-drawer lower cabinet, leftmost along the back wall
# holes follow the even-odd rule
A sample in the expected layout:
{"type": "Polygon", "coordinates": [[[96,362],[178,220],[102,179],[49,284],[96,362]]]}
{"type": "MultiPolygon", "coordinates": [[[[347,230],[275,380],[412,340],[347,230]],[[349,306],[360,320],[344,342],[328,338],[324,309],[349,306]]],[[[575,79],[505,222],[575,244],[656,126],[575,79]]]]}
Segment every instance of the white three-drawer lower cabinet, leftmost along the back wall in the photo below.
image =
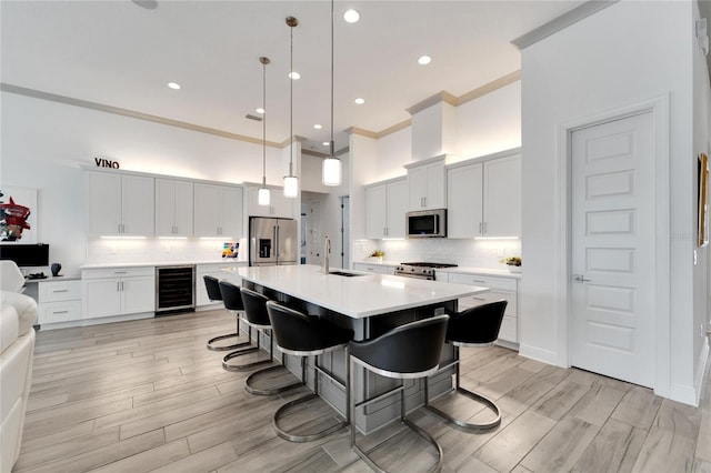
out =
{"type": "Polygon", "coordinates": [[[37,283],[38,325],[81,320],[81,281],[37,283]]]}

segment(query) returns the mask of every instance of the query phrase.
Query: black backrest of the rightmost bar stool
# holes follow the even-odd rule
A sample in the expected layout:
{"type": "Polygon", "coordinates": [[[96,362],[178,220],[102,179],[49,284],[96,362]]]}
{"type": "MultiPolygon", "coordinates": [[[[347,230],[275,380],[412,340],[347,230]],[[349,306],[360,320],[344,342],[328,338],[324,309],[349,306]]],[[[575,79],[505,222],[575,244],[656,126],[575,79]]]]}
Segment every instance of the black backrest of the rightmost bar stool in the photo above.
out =
{"type": "Polygon", "coordinates": [[[462,344],[493,343],[507,310],[504,299],[450,314],[447,341],[462,344]]]}

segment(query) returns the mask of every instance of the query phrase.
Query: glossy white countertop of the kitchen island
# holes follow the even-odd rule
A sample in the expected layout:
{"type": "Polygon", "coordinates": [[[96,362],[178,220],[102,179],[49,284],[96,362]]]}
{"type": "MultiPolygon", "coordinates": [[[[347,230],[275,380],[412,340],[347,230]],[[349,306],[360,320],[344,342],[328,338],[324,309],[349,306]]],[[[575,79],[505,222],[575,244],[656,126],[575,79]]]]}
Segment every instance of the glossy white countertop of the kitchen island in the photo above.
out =
{"type": "Polygon", "coordinates": [[[311,264],[234,268],[226,271],[353,319],[451,301],[489,290],[477,285],[360,271],[346,271],[363,274],[354,278],[323,274],[320,266],[311,264]]]}

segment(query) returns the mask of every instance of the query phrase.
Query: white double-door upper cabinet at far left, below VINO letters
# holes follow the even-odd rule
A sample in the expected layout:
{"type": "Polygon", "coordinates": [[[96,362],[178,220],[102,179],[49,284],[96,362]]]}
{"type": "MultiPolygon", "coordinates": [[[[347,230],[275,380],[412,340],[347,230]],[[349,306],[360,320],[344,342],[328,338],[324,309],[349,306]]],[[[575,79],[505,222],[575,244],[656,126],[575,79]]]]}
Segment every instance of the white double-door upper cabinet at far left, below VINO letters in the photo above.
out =
{"type": "Polygon", "coordinates": [[[153,178],[93,171],[86,177],[89,235],[153,235],[153,178]]]}

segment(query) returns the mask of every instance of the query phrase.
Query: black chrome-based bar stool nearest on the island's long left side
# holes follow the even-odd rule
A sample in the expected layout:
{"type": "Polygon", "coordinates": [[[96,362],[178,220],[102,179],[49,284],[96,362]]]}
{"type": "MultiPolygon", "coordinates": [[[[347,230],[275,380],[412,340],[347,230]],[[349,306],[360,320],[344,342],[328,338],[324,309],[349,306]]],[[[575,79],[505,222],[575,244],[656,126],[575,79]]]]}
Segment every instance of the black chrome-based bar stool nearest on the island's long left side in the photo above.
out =
{"type": "Polygon", "coordinates": [[[310,442],[312,440],[322,439],[326,435],[348,425],[350,422],[350,416],[348,414],[348,405],[350,403],[350,363],[348,362],[348,342],[353,338],[353,331],[349,329],[341,329],[324,322],[318,316],[306,315],[273,301],[267,303],[267,310],[269,311],[269,319],[271,320],[271,326],[279,351],[290,355],[301,356],[301,379],[304,383],[307,381],[306,358],[314,356],[313,392],[297,400],[289,401],[277,410],[272,419],[272,424],[277,435],[290,442],[310,442]],[[340,349],[346,350],[347,360],[346,380],[343,382],[339,381],[333,373],[330,373],[319,366],[319,355],[340,349]],[[279,420],[292,406],[302,404],[319,396],[319,374],[323,374],[344,391],[346,420],[312,434],[299,435],[287,432],[279,425],[279,420]]]}

